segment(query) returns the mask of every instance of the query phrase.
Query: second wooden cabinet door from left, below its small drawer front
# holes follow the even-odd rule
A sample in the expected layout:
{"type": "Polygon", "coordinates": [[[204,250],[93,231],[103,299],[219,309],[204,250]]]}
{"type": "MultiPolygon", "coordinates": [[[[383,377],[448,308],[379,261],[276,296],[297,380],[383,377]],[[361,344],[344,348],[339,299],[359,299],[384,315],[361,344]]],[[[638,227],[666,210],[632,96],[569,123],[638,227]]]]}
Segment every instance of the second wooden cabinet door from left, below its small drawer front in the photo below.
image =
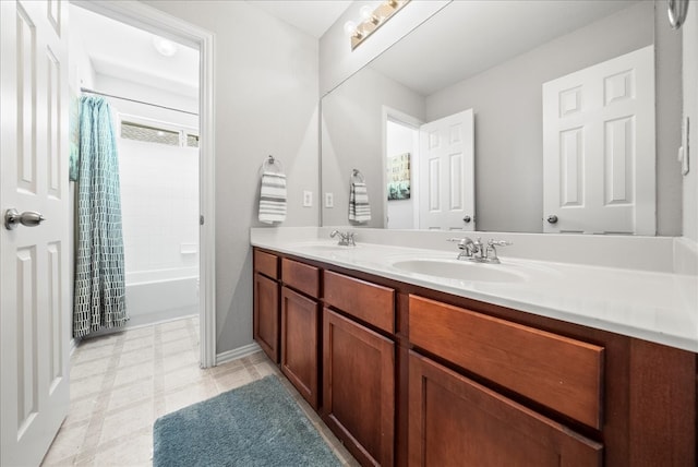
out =
{"type": "Polygon", "coordinates": [[[314,409],[318,407],[318,320],[315,300],[281,287],[281,371],[314,409]]]}

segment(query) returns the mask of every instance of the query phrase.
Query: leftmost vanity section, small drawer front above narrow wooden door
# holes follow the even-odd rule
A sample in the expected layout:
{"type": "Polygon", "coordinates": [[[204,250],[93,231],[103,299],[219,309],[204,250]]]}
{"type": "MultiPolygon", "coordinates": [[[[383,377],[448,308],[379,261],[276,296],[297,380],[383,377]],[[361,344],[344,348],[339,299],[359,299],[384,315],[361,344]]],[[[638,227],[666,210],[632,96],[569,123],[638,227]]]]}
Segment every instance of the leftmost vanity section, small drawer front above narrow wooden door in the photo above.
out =
{"type": "Polygon", "coordinates": [[[279,362],[278,256],[254,251],[253,337],[262,350],[279,362]]]}

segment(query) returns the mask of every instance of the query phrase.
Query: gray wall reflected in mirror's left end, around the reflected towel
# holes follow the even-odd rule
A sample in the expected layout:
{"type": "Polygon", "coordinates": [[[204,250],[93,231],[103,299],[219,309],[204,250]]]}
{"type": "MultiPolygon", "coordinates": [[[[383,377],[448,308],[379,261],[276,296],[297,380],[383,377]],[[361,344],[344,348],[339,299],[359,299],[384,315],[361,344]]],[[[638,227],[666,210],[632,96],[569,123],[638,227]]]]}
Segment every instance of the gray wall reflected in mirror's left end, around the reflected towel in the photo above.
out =
{"type": "Polygon", "coordinates": [[[352,169],[363,173],[371,204],[368,227],[385,225],[383,188],[383,106],[412,117],[424,116],[424,98],[373,71],[361,70],[323,98],[323,192],[333,192],[335,207],[323,207],[323,225],[349,224],[352,169]]]}

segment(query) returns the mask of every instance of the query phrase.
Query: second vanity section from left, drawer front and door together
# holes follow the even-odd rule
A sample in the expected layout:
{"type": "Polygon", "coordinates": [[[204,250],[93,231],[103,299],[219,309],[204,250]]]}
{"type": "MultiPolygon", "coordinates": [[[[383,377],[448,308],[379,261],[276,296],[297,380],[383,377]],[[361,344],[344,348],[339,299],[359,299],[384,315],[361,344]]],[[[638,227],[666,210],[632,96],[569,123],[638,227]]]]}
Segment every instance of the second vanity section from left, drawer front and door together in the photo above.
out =
{"type": "Polygon", "coordinates": [[[281,372],[314,409],[320,408],[320,271],[281,260],[281,372]]]}

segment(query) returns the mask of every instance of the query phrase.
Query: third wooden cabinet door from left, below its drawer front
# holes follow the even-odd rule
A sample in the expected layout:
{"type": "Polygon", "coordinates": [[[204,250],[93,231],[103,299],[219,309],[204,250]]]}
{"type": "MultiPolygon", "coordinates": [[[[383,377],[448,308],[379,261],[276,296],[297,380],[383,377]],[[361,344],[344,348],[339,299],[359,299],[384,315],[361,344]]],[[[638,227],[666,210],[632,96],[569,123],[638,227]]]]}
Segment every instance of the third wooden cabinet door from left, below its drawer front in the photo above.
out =
{"type": "Polygon", "coordinates": [[[325,308],[323,418],[362,465],[393,465],[395,344],[325,308]]]}

